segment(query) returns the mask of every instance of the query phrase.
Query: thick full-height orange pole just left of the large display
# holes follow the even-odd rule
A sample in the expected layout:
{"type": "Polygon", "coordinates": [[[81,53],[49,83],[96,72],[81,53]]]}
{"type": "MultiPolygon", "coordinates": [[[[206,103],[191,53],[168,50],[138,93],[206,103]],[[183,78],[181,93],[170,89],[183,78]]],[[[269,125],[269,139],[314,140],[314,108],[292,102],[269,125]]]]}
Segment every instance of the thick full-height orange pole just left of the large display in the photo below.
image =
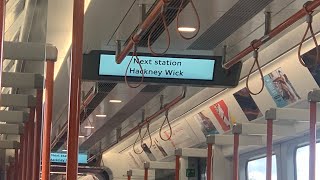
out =
{"type": "Polygon", "coordinates": [[[71,79],[69,84],[68,117],[68,160],[67,179],[76,180],[78,176],[78,146],[80,126],[82,46],[84,24],[84,0],[73,1],[73,33],[71,51],[71,79]]]}

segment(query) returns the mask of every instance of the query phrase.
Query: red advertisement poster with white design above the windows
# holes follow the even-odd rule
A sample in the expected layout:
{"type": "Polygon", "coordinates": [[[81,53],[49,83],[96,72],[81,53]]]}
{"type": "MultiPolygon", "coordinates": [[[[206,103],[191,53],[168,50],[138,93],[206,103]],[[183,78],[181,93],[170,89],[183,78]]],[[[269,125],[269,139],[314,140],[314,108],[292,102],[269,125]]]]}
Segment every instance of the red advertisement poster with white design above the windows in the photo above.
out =
{"type": "Polygon", "coordinates": [[[230,131],[231,126],[234,122],[226,103],[223,100],[221,100],[215,103],[214,105],[210,106],[210,110],[217,119],[218,124],[222,128],[223,132],[230,131]]]}

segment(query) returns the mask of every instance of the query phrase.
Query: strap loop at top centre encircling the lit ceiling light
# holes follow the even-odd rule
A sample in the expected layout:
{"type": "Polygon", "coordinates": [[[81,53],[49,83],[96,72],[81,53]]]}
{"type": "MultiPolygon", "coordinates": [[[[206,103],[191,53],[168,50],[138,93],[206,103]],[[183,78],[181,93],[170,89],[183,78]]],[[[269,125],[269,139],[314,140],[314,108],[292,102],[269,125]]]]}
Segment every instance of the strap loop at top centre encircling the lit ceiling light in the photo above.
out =
{"type": "Polygon", "coordinates": [[[195,38],[199,32],[200,32],[200,28],[201,28],[201,23],[200,23],[200,16],[198,14],[198,11],[197,11],[197,8],[196,6],[194,5],[193,3],[193,0],[187,0],[190,2],[191,4],[191,7],[196,15],[196,18],[197,18],[197,27],[196,27],[196,32],[193,34],[193,36],[190,36],[190,37],[187,37],[185,35],[182,34],[182,32],[179,31],[179,27],[180,27],[180,15],[181,15],[181,11],[183,10],[183,3],[184,3],[184,0],[181,0],[181,3],[180,3],[180,7],[179,7],[179,10],[178,10],[178,13],[177,13],[177,32],[179,33],[179,35],[185,39],[185,40],[191,40],[193,38],[195,38]]]}

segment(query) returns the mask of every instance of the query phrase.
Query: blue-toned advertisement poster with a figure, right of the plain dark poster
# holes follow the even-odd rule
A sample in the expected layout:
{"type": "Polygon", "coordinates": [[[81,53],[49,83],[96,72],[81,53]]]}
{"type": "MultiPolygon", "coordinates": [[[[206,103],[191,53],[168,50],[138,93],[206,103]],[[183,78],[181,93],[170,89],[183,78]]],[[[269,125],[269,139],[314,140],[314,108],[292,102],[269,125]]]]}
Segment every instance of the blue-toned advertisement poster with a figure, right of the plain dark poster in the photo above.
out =
{"type": "Polygon", "coordinates": [[[281,68],[264,77],[265,86],[277,107],[285,107],[301,99],[281,68]]]}

